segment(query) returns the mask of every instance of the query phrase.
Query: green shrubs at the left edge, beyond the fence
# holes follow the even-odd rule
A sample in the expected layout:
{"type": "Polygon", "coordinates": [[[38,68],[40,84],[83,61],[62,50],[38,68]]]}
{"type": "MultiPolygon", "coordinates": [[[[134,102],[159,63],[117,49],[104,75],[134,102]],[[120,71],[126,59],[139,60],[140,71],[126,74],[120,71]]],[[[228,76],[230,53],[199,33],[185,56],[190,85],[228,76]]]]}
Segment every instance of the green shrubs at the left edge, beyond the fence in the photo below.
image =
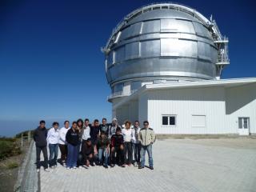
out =
{"type": "Polygon", "coordinates": [[[17,138],[0,138],[0,161],[21,153],[17,138]]]}

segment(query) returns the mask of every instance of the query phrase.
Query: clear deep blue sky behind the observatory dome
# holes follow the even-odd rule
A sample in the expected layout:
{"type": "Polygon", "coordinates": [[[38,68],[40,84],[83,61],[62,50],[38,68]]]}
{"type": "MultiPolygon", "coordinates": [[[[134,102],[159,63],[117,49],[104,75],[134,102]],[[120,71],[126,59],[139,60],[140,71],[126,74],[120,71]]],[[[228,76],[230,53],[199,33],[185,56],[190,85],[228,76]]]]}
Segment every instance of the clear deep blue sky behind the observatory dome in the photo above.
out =
{"type": "MultiPolygon", "coordinates": [[[[154,1],[0,2],[0,135],[78,118],[110,120],[105,46],[116,24],[154,1]]],[[[230,39],[222,78],[256,76],[254,1],[179,1],[210,18],[230,39]]]]}

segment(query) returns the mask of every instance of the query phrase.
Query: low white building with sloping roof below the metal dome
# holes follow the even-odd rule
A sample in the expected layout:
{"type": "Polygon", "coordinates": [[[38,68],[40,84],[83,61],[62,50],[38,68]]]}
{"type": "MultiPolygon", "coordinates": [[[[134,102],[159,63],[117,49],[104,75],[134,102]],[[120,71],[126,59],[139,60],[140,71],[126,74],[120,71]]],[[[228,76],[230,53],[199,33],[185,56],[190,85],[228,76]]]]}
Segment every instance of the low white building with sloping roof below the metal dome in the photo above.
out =
{"type": "Polygon", "coordinates": [[[148,120],[157,134],[256,134],[256,78],[145,85],[113,116],[148,120]]]}

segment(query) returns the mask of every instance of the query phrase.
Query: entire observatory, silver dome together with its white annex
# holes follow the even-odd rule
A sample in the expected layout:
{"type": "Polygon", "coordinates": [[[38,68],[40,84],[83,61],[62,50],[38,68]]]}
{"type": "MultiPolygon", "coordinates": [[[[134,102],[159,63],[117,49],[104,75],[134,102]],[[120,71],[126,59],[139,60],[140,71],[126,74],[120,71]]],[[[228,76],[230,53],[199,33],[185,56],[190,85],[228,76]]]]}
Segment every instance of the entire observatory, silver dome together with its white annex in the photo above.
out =
{"type": "Polygon", "coordinates": [[[228,42],[188,6],[126,15],[102,47],[113,118],[148,120],[157,134],[255,134],[256,78],[221,78],[228,42]]]}

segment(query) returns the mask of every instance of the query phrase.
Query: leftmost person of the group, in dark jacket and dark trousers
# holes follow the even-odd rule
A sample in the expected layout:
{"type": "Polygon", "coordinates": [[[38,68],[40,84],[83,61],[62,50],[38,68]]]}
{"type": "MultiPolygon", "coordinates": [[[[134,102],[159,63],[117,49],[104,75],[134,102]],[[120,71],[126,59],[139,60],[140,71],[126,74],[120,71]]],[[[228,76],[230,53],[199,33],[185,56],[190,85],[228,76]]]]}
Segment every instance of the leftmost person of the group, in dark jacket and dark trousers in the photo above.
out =
{"type": "Polygon", "coordinates": [[[37,153],[37,172],[40,170],[40,154],[42,151],[44,162],[43,167],[44,170],[48,170],[48,155],[47,155],[47,130],[46,130],[46,122],[40,121],[39,126],[36,130],[34,130],[34,142],[36,146],[36,153],[37,153]]]}

